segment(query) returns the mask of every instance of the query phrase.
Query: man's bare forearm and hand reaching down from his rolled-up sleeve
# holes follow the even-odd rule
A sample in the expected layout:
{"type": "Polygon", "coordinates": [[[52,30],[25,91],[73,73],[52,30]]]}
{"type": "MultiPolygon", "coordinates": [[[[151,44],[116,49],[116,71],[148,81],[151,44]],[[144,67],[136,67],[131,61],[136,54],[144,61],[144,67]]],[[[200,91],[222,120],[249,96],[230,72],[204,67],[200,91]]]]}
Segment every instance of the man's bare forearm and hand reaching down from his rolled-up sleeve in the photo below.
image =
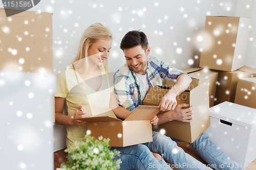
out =
{"type": "Polygon", "coordinates": [[[192,80],[188,75],[180,74],[177,77],[174,86],[163,96],[163,99],[159,104],[159,110],[174,110],[177,105],[176,96],[186,90],[191,81],[192,80]]]}

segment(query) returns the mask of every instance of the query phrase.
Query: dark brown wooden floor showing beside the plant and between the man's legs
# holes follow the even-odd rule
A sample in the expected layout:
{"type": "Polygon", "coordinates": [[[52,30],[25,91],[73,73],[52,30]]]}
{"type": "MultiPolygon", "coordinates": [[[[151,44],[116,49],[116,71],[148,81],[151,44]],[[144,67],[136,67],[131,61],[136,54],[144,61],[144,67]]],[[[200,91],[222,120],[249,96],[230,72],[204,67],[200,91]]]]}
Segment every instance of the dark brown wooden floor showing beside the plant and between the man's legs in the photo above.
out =
{"type": "MultiPolygon", "coordinates": [[[[190,146],[190,144],[188,144],[187,142],[177,142],[178,146],[181,147],[186,153],[188,153],[189,155],[193,156],[194,158],[196,158],[197,160],[199,160],[200,162],[202,162],[203,164],[207,164],[198,154],[197,152],[190,146]]],[[[54,152],[54,170],[56,170],[56,168],[60,167],[60,164],[63,162],[67,161],[67,156],[68,154],[66,152],[64,152],[65,149],[54,152]]],[[[254,163],[253,165],[256,166],[256,159],[254,159],[254,161],[252,162],[254,163]]],[[[176,168],[174,168],[176,169],[176,168]]],[[[256,169],[255,167],[247,167],[247,170],[252,170],[252,169],[256,169]]]]}

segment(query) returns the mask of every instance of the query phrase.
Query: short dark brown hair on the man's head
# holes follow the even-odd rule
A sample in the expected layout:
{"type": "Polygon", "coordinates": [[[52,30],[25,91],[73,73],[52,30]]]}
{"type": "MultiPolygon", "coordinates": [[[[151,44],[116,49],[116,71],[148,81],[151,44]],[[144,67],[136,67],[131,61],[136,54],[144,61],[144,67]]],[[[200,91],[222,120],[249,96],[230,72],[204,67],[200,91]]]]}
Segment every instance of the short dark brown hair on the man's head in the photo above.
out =
{"type": "Polygon", "coordinates": [[[124,35],[120,43],[120,48],[123,51],[125,48],[132,48],[137,45],[141,45],[146,51],[148,46],[146,34],[144,34],[142,31],[129,31],[124,35]]]}

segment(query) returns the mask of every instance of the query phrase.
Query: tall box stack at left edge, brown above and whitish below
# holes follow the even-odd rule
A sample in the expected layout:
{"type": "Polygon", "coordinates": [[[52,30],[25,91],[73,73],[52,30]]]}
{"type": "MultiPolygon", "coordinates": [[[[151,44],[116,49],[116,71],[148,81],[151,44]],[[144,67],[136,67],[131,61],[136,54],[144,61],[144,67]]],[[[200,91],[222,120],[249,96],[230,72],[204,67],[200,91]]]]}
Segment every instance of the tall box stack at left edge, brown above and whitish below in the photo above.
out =
{"type": "Polygon", "coordinates": [[[52,14],[0,16],[1,169],[53,169],[52,14]]]}

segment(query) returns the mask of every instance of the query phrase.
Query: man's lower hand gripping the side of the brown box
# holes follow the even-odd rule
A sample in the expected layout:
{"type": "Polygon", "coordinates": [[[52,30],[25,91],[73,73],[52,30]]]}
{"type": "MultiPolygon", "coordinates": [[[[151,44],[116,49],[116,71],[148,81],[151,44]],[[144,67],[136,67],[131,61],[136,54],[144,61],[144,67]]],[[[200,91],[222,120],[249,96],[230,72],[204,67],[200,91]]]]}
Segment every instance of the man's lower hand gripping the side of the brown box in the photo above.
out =
{"type": "Polygon", "coordinates": [[[170,111],[172,114],[172,120],[178,120],[181,122],[190,123],[193,120],[194,106],[187,109],[182,109],[183,107],[188,107],[188,104],[177,105],[174,111],[170,111]]]}

